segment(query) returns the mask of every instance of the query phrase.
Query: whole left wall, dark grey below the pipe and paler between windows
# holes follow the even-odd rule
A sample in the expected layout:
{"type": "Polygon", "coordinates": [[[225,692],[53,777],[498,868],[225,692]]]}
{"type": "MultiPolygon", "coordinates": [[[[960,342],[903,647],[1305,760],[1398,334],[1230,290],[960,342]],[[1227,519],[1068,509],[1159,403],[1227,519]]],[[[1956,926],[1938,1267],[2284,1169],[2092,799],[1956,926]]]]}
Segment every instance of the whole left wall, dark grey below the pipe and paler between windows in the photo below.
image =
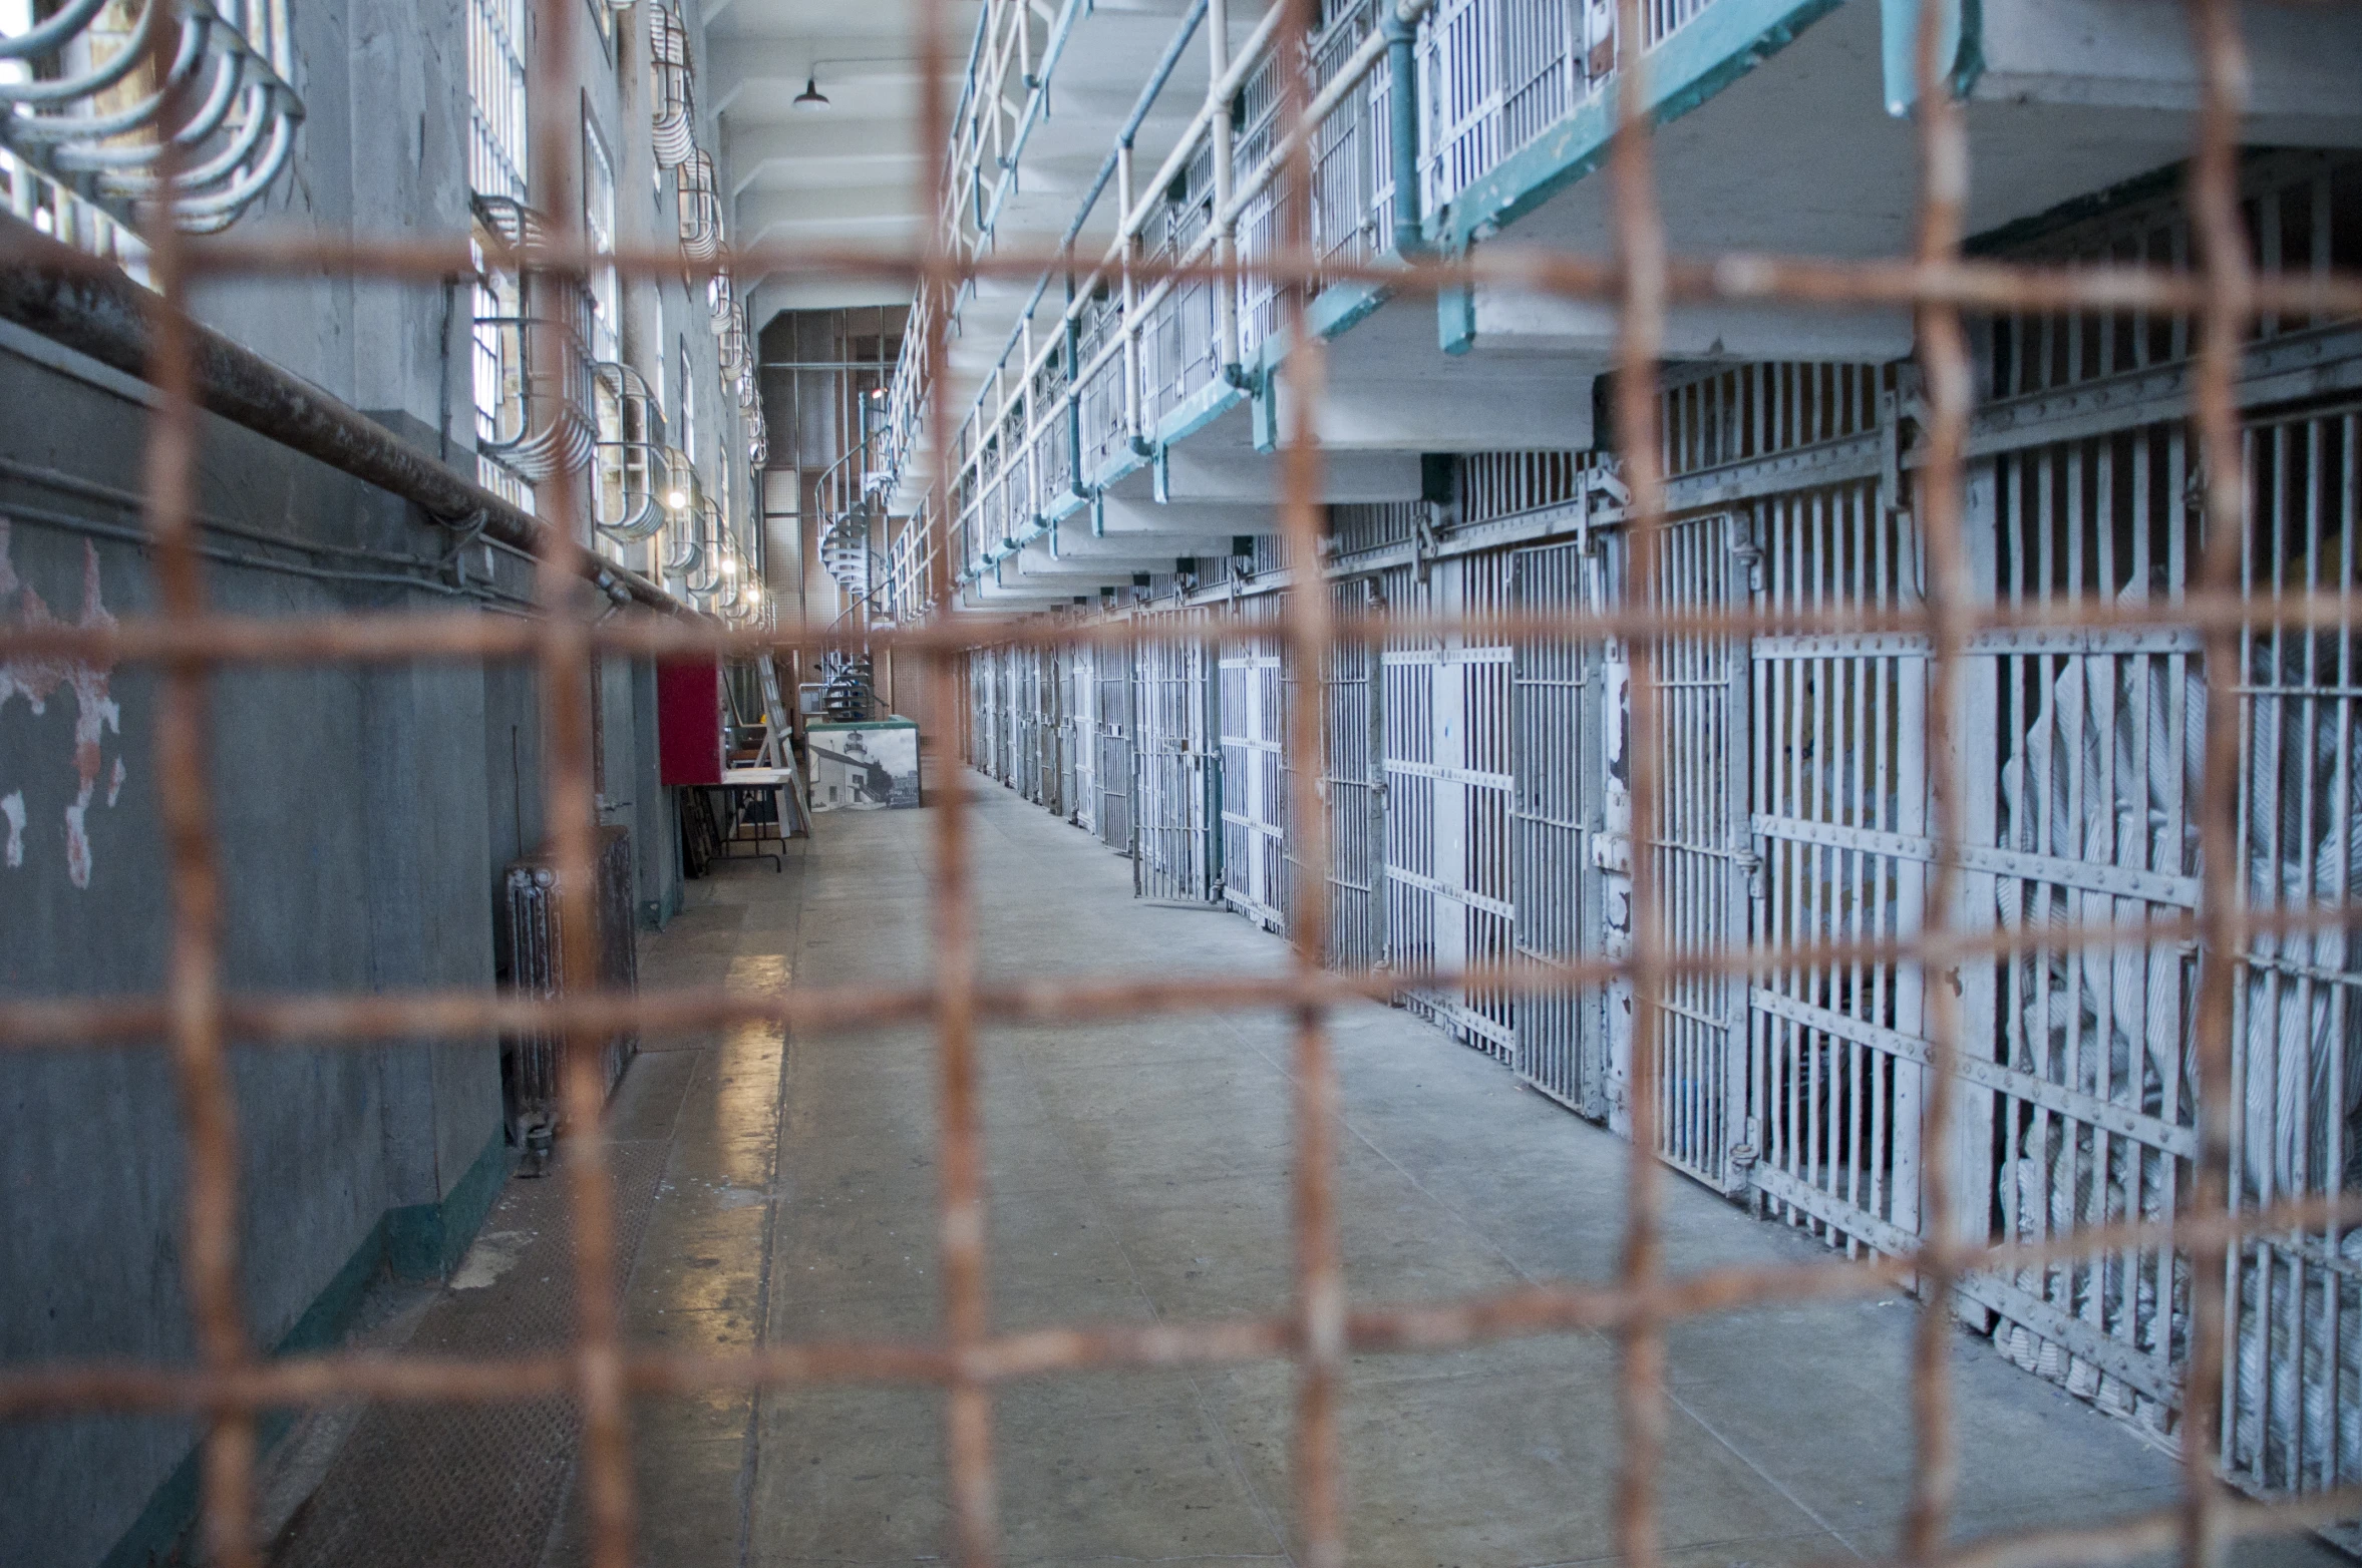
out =
{"type": "MultiPolygon", "coordinates": [[[[291,14],[300,146],[246,229],[465,231],[463,0],[291,14]]],[[[614,40],[595,33],[588,7],[574,19],[579,90],[616,165],[619,236],[664,241],[673,215],[647,149],[645,19],[621,14],[614,40]]],[[[196,312],[472,472],[465,283],[210,283],[196,312]]],[[[718,479],[713,460],[737,437],[702,290],[678,279],[633,290],[624,349],[652,383],[661,357],[676,416],[685,378],[699,378],[699,458],[718,479]]],[[[139,529],[130,491],[146,392],[0,328],[0,619],[151,609],[146,555],[125,538],[139,529]]],[[[394,496],[217,420],[205,423],[201,512],[227,524],[208,529],[208,548],[241,557],[208,562],[224,612],[520,614],[531,593],[529,562],[484,548],[465,555],[468,593],[449,579],[361,581],[418,576],[406,562],[439,562],[451,536],[394,496]]],[[[0,671],[7,994],[137,994],[163,978],[154,690],[132,668],[0,671]],[[87,779],[78,749],[94,753],[87,779]]],[[[664,919],[680,907],[680,864],[673,791],[657,784],[654,673],[607,661],[598,692],[605,819],[633,829],[640,914],[664,919]]],[[[208,741],[231,987],[498,982],[498,876],[543,836],[529,668],[224,673],[208,741]]],[[[262,1348],[331,1344],[380,1270],[449,1268],[508,1169],[491,1039],[253,1048],[236,1058],[236,1089],[246,1311],[262,1348]]],[[[154,1046],[0,1060],[0,1360],[191,1355],[182,1200],[180,1115],[154,1046]]],[[[191,1443],[180,1419],[0,1424],[0,1568],[149,1561],[189,1518],[191,1443]]]]}

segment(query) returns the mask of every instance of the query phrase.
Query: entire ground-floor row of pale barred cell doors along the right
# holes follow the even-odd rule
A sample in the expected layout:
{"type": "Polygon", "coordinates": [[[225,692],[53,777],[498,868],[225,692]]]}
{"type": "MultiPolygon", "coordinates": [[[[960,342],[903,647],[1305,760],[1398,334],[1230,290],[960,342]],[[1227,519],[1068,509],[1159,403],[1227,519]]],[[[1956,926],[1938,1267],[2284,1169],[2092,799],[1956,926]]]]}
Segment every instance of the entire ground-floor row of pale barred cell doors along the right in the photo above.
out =
{"type": "MultiPolygon", "coordinates": [[[[2246,593],[2362,593],[2345,548],[2362,529],[2362,413],[2260,418],[2246,439],[2246,593]]],[[[2175,423],[1984,458],[1970,484],[1977,588],[2003,602],[2178,595],[2201,543],[2194,460],[2175,423]]],[[[1330,590],[1342,616],[1625,595],[1875,612],[1920,595],[1908,505],[1878,479],[1679,517],[1649,555],[1627,583],[1632,543],[1597,531],[1330,590]]],[[[2362,638],[2258,616],[2242,661],[2244,895],[2345,902],[2362,888],[2362,638]]],[[[1087,671],[1065,690],[1089,690],[1089,713],[1075,697],[1065,723],[1089,725],[1068,749],[1091,779],[1068,798],[1089,808],[1068,815],[1136,855],[1146,895],[1285,928],[1304,874],[1285,744],[1301,682],[1280,642],[1101,649],[1087,671]]],[[[1878,947],[1925,921],[1942,775],[1963,831],[1946,919],[2003,940],[1939,978],[1958,1011],[1949,1143],[1968,1240],[2166,1219],[2194,1183],[2194,956],[2178,940],[2069,933],[2197,907],[2197,640],[1986,635],[1963,664],[1949,758],[1925,749],[1927,682],[1925,640],[1892,633],[1339,649],[1318,680],[1330,956],[1396,968],[1405,1004],[1609,1126],[1632,1129],[1630,1086],[1651,1082],[1653,1143],[1677,1169],[1753,1193],[1831,1247],[1908,1252],[1925,1226],[1927,978],[1878,947]],[[1642,661],[1656,770],[1635,767],[1642,661]],[[1649,810],[1635,810],[1637,782],[1649,810]],[[1656,997],[1424,980],[1630,952],[1637,864],[1653,871],[1649,919],[1672,954],[1845,952],[1698,966],[1656,997]],[[1630,1063],[1635,1018],[1649,1020],[1646,1079],[1630,1063]]],[[[1025,730],[997,732],[1016,744],[1025,730]]],[[[2362,956],[2329,930],[2256,937],[2239,959],[2234,1200],[2362,1188],[2362,956]]],[[[2166,1433],[2194,1287],[2187,1254],[2147,1249],[1972,1275],[1963,1294],[2008,1355],[2166,1433]]],[[[2246,1240],[2220,1287],[2225,1469],[2258,1492],[2362,1481],[2362,1233],[2246,1240]]]]}

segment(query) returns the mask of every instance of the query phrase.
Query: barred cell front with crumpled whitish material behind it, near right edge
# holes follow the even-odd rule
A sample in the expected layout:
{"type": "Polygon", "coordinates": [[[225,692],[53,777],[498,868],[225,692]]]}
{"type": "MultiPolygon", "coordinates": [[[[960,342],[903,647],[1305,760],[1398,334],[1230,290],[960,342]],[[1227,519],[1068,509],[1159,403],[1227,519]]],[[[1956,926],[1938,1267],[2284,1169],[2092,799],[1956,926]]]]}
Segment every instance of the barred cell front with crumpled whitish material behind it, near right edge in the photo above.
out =
{"type": "MultiPolygon", "coordinates": [[[[2008,602],[2178,595],[2197,541],[2194,453],[2178,425],[2003,451],[1979,475],[2008,602]]],[[[1998,730],[1972,902],[2005,930],[2190,919],[2199,897],[2197,801],[2204,659],[2173,628],[2083,633],[2071,647],[1984,638],[1998,730]],[[1986,848],[1991,845],[1991,848],[1986,848]]],[[[2275,704],[2260,699],[2260,708],[2275,704]]],[[[1963,1063],[1991,1122],[1991,1190],[2005,1240],[2168,1219],[2197,1155],[2194,954],[2154,947],[2022,947],[1989,966],[1991,1023],[1963,1063]]],[[[2234,1046],[2237,1048],[2237,1046],[2234,1046]]],[[[2166,1252],[1977,1278],[1994,1341],[2164,1429],[2187,1344],[2187,1261],[2166,1252]]]]}

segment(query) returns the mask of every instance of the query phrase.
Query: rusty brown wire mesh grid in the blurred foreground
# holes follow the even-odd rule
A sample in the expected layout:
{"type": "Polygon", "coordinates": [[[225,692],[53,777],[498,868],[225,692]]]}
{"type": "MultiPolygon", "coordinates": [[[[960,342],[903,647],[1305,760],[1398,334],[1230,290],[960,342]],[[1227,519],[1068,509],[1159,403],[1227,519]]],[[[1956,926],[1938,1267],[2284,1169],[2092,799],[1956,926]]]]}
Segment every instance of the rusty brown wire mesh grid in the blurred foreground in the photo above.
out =
{"type": "MultiPolygon", "coordinates": [[[[1495,642],[1568,642],[1625,638],[1632,661],[1632,838],[1649,843],[1656,831],[1658,779],[1675,758],[1663,756],[1658,638],[1734,638],[1753,633],[1899,631],[1920,633],[1932,649],[1925,701],[1927,753],[1942,756],[1958,713],[1958,675],[1972,638],[2008,628],[2138,628],[2194,631],[2204,647],[2208,687],[2204,725],[2204,798],[2199,841],[2204,867],[2237,862],[2239,775],[2237,680],[2239,638],[2260,619],[2284,628],[2348,628],[2350,607],[2336,593],[2282,593],[2268,607],[2242,597],[2242,541],[2246,536],[2249,486],[2244,479],[2242,425],[2232,380],[2249,326],[2270,312],[2362,314],[2362,279],[2345,274],[2279,276],[2251,267],[2239,227],[2237,128],[2244,92],[2244,54],[2232,0],[2190,0],[2190,26],[2201,61],[2201,109],[2190,163],[2190,210],[2194,272],[2135,264],[2083,269],[2003,267],[1965,262],[1963,203],[1968,146],[1963,113],[1939,68],[1944,7],[1923,5],[1918,28],[1918,239],[1908,257],[1878,262],[1819,262],[1812,257],[1682,257],[1665,253],[1651,182],[1651,123],[1639,78],[1649,61],[1625,61],[1616,92],[1618,135],[1611,146],[1616,248],[1606,260],[1486,248],[1448,260],[1403,260],[1358,269],[1320,257],[1311,194],[1316,135],[1309,130],[1304,47],[1313,35],[1311,0],[1283,0],[1292,12],[1280,28],[1278,123],[1287,168],[1278,201],[1278,243],[1254,264],[1214,260],[1195,267],[1141,262],[1136,276],[1212,279],[1235,286],[1242,276],[1266,281],[1278,295],[1278,324],[1294,345],[1283,364],[1290,427],[1283,439],[1280,534],[1292,560],[1318,560],[1320,550],[1320,444],[1313,435],[1323,390],[1323,354],[1306,331],[1304,309],[1316,281],[1368,276],[1405,293],[1431,293],[1472,281],[1514,281],[1571,298],[1613,302],[1620,314],[1616,425],[1623,432],[1625,479],[1632,491],[1632,581],[1653,581],[1658,553],[1668,548],[1665,472],[1658,449],[1658,361],[1665,312],[1677,300],[1786,300],[1800,305],[1911,305],[1918,314],[1918,361],[1925,375],[1925,458],[1916,486],[1918,527],[1925,538],[1925,595],[1908,607],[1774,607],[1663,609],[1599,607],[1566,612],[1505,609],[1488,616],[1363,614],[1339,619],[1327,593],[1287,595],[1278,626],[1240,621],[1233,628],[1188,621],[1105,621],[1091,626],[1025,619],[933,616],[893,633],[869,633],[872,645],[909,649],[928,661],[935,713],[964,706],[959,654],[980,642],[1129,647],[1153,640],[1233,642],[1240,647],[1278,640],[1292,668],[1320,668],[1339,645],[1384,647],[1389,638],[1483,631],[1495,642]],[[1963,463],[1970,413],[1970,359],[1963,309],[2086,309],[2178,314],[2194,321],[2197,375],[2192,425],[2201,449],[2201,510],[2206,517],[2204,562],[2197,586],[2171,602],[1977,602],[1968,593],[1963,550],[1963,463]]],[[[1623,0],[1620,31],[1642,35],[1642,2],[1623,0]]],[[[562,80],[569,31],[579,24],[567,0],[543,0],[534,12],[531,71],[562,80]]],[[[921,146],[933,158],[931,189],[945,179],[947,106],[942,99],[942,0],[921,7],[921,146]]],[[[536,163],[553,184],[572,168],[565,144],[574,137],[565,92],[534,92],[536,163]]],[[[555,189],[550,213],[579,213],[574,191],[555,189]]],[[[928,210],[942,210],[931,203],[928,210]]],[[[2301,1502],[2258,1504],[2237,1500],[2213,1471],[2216,1450],[2204,1433],[2220,1424],[2225,1360],[2225,1268],[2239,1235],[2270,1228],[2322,1226],[2355,1219],[2336,1197],[2301,1197],[2237,1211],[2230,1200],[2232,1162],[2232,1013],[2234,954],[2265,933],[2329,930],[2353,923],[2348,907],[2249,909],[2242,878],[2208,874],[2187,916],[2138,926],[2095,923],[2071,930],[2010,928],[1958,930],[1949,923],[1953,878],[1960,869],[1963,824],[1946,791],[1934,791],[1932,838],[1937,855],[1925,886],[1925,914],[1908,937],[1823,940],[1781,949],[1675,947],[1653,919],[1660,888],[1649,855],[1632,864],[1632,945],[1601,959],[1542,961],[1460,968],[1453,973],[1335,971],[1330,952],[1327,812],[1320,808],[1320,772],[1290,770],[1290,860],[1304,874],[1294,881],[1287,912],[1294,966],[1271,980],[1238,978],[1127,978],[1077,982],[987,980],[978,968],[976,902],[968,883],[968,810],[957,772],[938,789],[933,817],[933,919],[935,963],[926,985],[893,992],[853,987],[789,987],[768,997],[723,992],[576,992],[553,999],[489,994],[229,994],[220,975],[222,867],[208,801],[208,680],[239,664],[307,661],[413,661],[503,659],[531,661],[541,673],[550,756],[548,822],[553,860],[565,900],[565,940],[581,949],[565,954],[567,973],[595,973],[586,949],[593,940],[593,770],[586,671],[593,652],[621,654],[732,654],[803,647],[798,631],[723,628],[706,621],[654,616],[593,619],[583,602],[583,548],[579,520],[567,515],[567,486],[550,486],[553,510],[543,517],[539,600],[531,621],[489,616],[342,616],[342,619],[224,619],[208,609],[191,472],[198,446],[198,340],[180,312],[194,279],[276,269],[340,267],[380,276],[463,274],[465,236],[442,243],[359,241],[203,241],[194,243],[156,224],[149,312],[154,357],[149,380],[161,390],[144,453],[146,517],[158,579],[158,614],[116,626],[9,626],[0,628],[0,652],[50,659],[149,661],[161,668],[156,704],[158,793],[170,857],[172,942],[168,985],[149,999],[66,997],[0,1004],[0,1046],[59,1048],[163,1039],[170,1056],[187,1138],[187,1249],[184,1270],[196,1325],[198,1365],[33,1365],[0,1372],[0,1417],[33,1417],[90,1410],[180,1410],[203,1422],[203,1537],[213,1561],[246,1568],[257,1561],[253,1540],[257,1419],[267,1410],[328,1400],[387,1403],[489,1403],[572,1400],[581,1429],[581,1497],[593,1561],[626,1568],[633,1561],[633,1478],[628,1462],[628,1398],[702,1389],[775,1389],[808,1381],[902,1381],[931,1384],[947,1393],[947,1471],[964,1563],[994,1561],[994,1455],[992,1398],[1011,1379],[1051,1377],[1075,1370],[1160,1367],[1181,1363],[1238,1363],[1285,1358],[1297,1367],[1294,1405],[1294,1523],[1299,1556],[1313,1568],[1346,1561],[1346,1509],[1339,1459],[1342,1370],[1351,1351],[1438,1351],[1486,1339],[1609,1329],[1620,1339],[1618,1417],[1623,1459],[1616,1495],[1616,1549],[1623,1561],[1658,1561],[1656,1518],[1660,1509],[1660,1452],[1665,1422],[1665,1332],[1701,1313],[1859,1296],[1911,1285],[1927,1304],[1944,1301],[1970,1270],[2038,1268],[2060,1259],[2109,1252],[2182,1247],[2194,1261],[2192,1327],[2185,1386],[2182,1443],[2185,1488],[2173,1509],[2093,1528],[2055,1528],[1989,1537],[1951,1547],[1951,1497],[1956,1452],[1946,1367],[1949,1313],[1920,1313],[1911,1372],[1916,1459],[1901,1561],[1908,1563],[2069,1563],[2123,1561],[2142,1551],[2180,1544],[2192,1568],[2220,1561],[2227,1540],[2270,1530],[2296,1530],[2362,1514],[2362,1490],[2327,1490],[2301,1502]],[[454,262],[454,246],[461,264],[454,262]],[[1717,1268],[1670,1278],[1660,1252],[1660,1148],[1658,1148],[1658,1053],[1651,1048],[1653,1008],[1635,1011],[1630,1056],[1630,1176],[1623,1268],[1611,1285],[1549,1282],[1502,1294],[1438,1304],[1346,1301],[1339,1216],[1332,1171],[1337,1164],[1337,1072],[1330,1060],[1325,1013],[1358,997],[1391,997],[1403,989],[1483,989],[1521,994],[1571,994],[1611,980],[1639,994],[1656,994],[1675,980],[1701,975],[1757,975],[1795,963],[1883,961],[1925,971],[1975,956],[2020,949],[2107,952],[2190,940],[2197,945],[2197,1063],[2199,1063],[2199,1157],[2187,1204],[2168,1221],[2105,1223],[2038,1242],[1977,1247],[1958,1242],[1960,1228],[1946,1141],[1953,1138],[1949,1096],[1958,1060],[1960,1020],[1949,987],[1930,985],[1927,1103],[1923,1105],[1923,1242],[1899,1256],[1842,1259],[1790,1268],[1717,1268]],[[978,1122],[976,1030],[985,1020],[1115,1020],[1143,1013],[1278,1008],[1292,1018],[1292,1223],[1294,1294],[1283,1315],[1153,1327],[1070,1325],[1020,1334],[992,1329],[985,1294],[985,1150],[978,1122]],[[763,1346],[744,1355],[652,1353],[626,1344],[616,1313],[616,1193],[612,1150],[602,1136],[602,1041],[616,1027],[640,1032],[702,1030],[727,1023],[803,1027],[883,1027],[926,1023],[938,1032],[940,1072],[940,1223],[945,1332],[933,1341],[824,1341],[763,1346]],[[565,1122],[569,1148],[565,1195],[572,1214],[574,1325],[562,1348],[524,1358],[366,1355],[321,1353],[265,1360],[246,1329],[239,1299],[239,1129],[229,1079],[229,1051],[239,1046],[321,1041],[366,1046],[394,1037],[458,1034],[484,1030],[546,1030],[567,1041],[565,1122]]],[[[12,257],[14,264],[31,264],[12,257]]],[[[40,264],[59,262],[43,253],[40,264]]],[[[527,269],[576,276],[593,264],[579,231],[553,231],[517,248],[527,269]]],[[[1056,267],[1058,255],[999,253],[959,257],[938,227],[912,250],[739,250],[706,267],[735,264],[805,274],[886,274],[947,295],[964,279],[987,272],[1027,274],[1056,267]]],[[[616,255],[624,272],[678,274],[678,255],[616,255]]],[[[924,364],[933,397],[928,437],[931,472],[942,482],[947,432],[942,397],[947,378],[942,312],[926,314],[924,364]]],[[[938,555],[950,548],[950,510],[931,510],[938,555]]],[[[935,581],[950,581],[938,574],[935,581]]],[[[1668,642],[1670,647],[1672,642],[1668,642]]],[[[1323,704],[1316,682],[1292,682],[1287,701],[1287,753],[1323,756],[1323,704]]]]}

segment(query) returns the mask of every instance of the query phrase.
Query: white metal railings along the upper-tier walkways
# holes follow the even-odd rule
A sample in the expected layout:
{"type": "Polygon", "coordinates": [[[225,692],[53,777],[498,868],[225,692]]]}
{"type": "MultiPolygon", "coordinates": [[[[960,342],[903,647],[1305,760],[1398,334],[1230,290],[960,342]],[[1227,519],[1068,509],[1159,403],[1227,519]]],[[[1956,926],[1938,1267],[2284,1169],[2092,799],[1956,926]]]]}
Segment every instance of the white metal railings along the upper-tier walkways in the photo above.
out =
{"type": "MultiPolygon", "coordinates": [[[[1639,21],[1642,47],[1656,47],[1708,5],[1712,0],[1651,2],[1639,21]]],[[[1200,28],[1202,12],[1200,5],[1183,17],[1176,47],[1200,28]]],[[[1224,28],[1207,31],[1212,83],[1205,102],[1164,163],[1138,179],[1131,135],[1162,92],[1172,54],[1150,78],[1143,109],[1110,153],[1122,213],[1115,243],[1096,267],[1077,264],[1065,274],[1068,305],[1046,321],[1039,307],[1058,274],[1044,276],[952,442],[954,460],[973,477],[961,491],[964,510],[947,517],[947,534],[966,541],[954,553],[964,581],[1023,543],[1065,491],[1084,496],[1113,465],[1148,451],[1160,423],[1193,399],[1252,383],[1278,326],[1268,279],[1164,276],[1141,286],[1134,274],[1275,253],[1290,158],[1275,118],[1285,99],[1283,59],[1290,57],[1278,38],[1283,12],[1266,12],[1235,59],[1224,28]],[[1044,394],[1044,383],[1056,383],[1058,392],[1044,394]],[[1011,449],[1013,416],[1023,427],[1013,444],[1027,453],[1018,484],[980,472],[992,449],[985,432],[999,432],[1001,451],[1011,449]],[[1044,486],[1044,472],[1061,475],[1063,484],[1044,486]]],[[[992,17],[1004,31],[992,33],[997,43],[983,59],[1001,68],[994,61],[1020,59],[1023,26],[1001,12],[987,21],[992,17]]],[[[1606,0],[1330,0],[1318,9],[1301,59],[1313,111],[1306,234],[1318,257],[1368,264],[1415,248],[1427,217],[1597,97],[1618,66],[1618,47],[1606,0]],[[1412,106],[1398,123],[1394,76],[1410,61],[1412,106]],[[1412,144],[1417,201],[1396,191],[1398,149],[1412,144]]],[[[997,78],[987,71],[978,80],[997,78]]],[[[973,165],[985,146],[999,149],[994,156],[1011,158],[1013,168],[1013,144],[983,130],[978,116],[985,111],[964,113],[966,139],[954,142],[954,172],[973,165]]],[[[1108,177],[1087,194],[1068,248],[1105,184],[1108,177]]],[[[990,231],[971,224],[961,234],[990,231]]],[[[921,288],[914,324],[928,312],[957,312],[957,298],[945,302],[921,288]]],[[[879,456],[898,479],[919,458],[921,338],[912,331],[905,340],[886,411],[879,456]]]]}

